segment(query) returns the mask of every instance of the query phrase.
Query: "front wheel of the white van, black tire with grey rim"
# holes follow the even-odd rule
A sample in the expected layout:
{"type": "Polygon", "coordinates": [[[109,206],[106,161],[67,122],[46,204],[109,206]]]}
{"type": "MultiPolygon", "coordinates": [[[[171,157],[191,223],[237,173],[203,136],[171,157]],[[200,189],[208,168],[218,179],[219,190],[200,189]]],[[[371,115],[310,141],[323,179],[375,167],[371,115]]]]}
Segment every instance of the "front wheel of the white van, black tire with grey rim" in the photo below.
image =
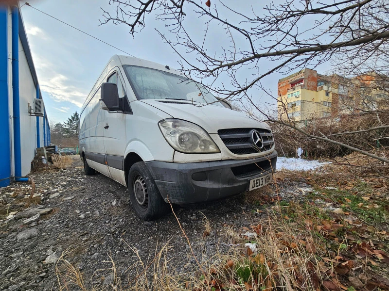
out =
{"type": "Polygon", "coordinates": [[[157,219],[171,211],[144,162],[136,162],[128,173],[128,192],[136,215],[146,221],[157,219]]]}

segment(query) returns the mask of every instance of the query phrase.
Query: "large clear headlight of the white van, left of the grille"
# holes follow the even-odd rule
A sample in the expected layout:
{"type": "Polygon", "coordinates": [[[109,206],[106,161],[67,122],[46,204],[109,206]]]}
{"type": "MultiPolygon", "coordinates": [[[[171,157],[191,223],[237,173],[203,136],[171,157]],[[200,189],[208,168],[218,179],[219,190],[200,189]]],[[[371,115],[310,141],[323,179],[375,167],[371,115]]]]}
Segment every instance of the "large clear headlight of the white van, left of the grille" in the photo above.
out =
{"type": "Polygon", "coordinates": [[[164,119],[158,123],[162,135],[175,150],[183,153],[220,153],[209,134],[194,123],[164,119]]]}

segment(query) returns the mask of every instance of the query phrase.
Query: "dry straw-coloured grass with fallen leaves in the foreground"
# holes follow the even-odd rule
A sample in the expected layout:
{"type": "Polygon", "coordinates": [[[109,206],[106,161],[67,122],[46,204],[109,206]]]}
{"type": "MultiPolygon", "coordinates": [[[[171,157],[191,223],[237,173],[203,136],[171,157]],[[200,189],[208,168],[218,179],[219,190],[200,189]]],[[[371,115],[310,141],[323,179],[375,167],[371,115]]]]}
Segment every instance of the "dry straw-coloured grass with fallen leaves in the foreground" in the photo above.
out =
{"type": "MultiPolygon", "coordinates": [[[[126,282],[120,279],[115,263],[109,257],[111,268],[99,270],[109,270],[112,275],[112,281],[105,286],[87,287],[90,284],[85,284],[86,281],[80,271],[65,259],[69,253],[64,253],[56,266],[58,284],[60,290],[74,290],[77,286],[83,291],[269,291],[277,287],[291,291],[315,290],[321,283],[321,278],[317,274],[324,267],[316,259],[315,254],[322,254],[324,251],[319,248],[309,226],[305,224],[304,227],[302,230],[290,226],[277,209],[270,210],[261,224],[248,230],[244,229],[243,232],[246,234],[227,226],[225,235],[235,247],[228,253],[217,251],[212,258],[203,261],[201,265],[204,273],[196,265],[193,265],[195,272],[170,271],[176,270],[176,266],[168,259],[168,253],[173,252],[169,244],[157,248],[154,256],[149,257],[147,261],[141,259],[137,249],[127,245],[137,261],[126,271],[126,282]],[[247,232],[255,236],[248,238],[247,232]],[[254,252],[244,247],[247,242],[255,244],[254,252]]],[[[91,282],[92,278],[89,281],[91,282]]]]}

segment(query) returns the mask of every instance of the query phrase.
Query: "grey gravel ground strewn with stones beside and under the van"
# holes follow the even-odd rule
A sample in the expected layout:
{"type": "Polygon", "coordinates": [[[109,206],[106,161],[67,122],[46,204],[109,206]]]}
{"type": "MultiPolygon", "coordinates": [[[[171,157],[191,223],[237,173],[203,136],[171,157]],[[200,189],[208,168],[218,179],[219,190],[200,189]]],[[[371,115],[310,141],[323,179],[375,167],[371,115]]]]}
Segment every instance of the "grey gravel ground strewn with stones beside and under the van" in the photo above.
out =
{"type": "MultiPolygon", "coordinates": [[[[68,258],[85,274],[88,286],[109,283],[109,270],[101,270],[111,266],[108,255],[126,281],[125,271],[137,260],[129,246],[147,260],[154,258],[157,245],[169,242],[171,265],[178,271],[191,270],[195,261],[173,214],[154,222],[142,221],[132,211],[124,186],[104,175],[84,176],[79,157],[73,159],[70,168],[30,175],[36,189],[34,203],[27,209],[23,206],[31,192],[29,184],[16,183],[0,189],[0,290],[59,290],[55,262],[64,251],[71,251],[68,258]]],[[[278,187],[284,199],[312,191],[303,182],[279,183],[278,187]]],[[[275,187],[270,189],[274,193],[275,187]]],[[[211,257],[218,246],[228,251],[229,246],[223,244],[228,243],[226,225],[236,229],[250,226],[265,213],[256,210],[271,205],[249,204],[240,194],[212,203],[177,207],[175,212],[201,260],[211,257]],[[201,212],[211,224],[207,238],[202,236],[201,212]]]]}

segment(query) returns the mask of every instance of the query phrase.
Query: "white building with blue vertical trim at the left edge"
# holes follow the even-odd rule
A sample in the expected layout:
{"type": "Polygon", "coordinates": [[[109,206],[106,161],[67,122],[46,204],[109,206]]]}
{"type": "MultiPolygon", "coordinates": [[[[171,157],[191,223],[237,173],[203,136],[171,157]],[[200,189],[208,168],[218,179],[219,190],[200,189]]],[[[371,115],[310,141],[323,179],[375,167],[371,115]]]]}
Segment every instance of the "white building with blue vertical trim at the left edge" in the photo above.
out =
{"type": "Polygon", "coordinates": [[[23,19],[0,3],[0,187],[26,180],[36,147],[50,143],[46,112],[31,113],[35,98],[42,96],[23,19]]]}

